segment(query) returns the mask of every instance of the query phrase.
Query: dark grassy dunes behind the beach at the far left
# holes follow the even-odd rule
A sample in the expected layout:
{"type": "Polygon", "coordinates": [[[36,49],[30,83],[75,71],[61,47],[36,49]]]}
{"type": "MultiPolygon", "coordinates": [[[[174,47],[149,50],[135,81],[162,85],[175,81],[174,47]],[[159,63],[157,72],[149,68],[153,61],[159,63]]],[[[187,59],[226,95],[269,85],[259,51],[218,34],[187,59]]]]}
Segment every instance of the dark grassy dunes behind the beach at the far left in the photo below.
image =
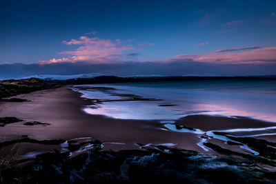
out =
{"type": "MultiPolygon", "coordinates": [[[[57,87],[59,87],[57,83],[46,83],[45,81],[34,78],[0,81],[0,99],[17,94],[25,94],[57,87]]],[[[21,101],[21,99],[11,99],[11,101],[21,101]]]]}

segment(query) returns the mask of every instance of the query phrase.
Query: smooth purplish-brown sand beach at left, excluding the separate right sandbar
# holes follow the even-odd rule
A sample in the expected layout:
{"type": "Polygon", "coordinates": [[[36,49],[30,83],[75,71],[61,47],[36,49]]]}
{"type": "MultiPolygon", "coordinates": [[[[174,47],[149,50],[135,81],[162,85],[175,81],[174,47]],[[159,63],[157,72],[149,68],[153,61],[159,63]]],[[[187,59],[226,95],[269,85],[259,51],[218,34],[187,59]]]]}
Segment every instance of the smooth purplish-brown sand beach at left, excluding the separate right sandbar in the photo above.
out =
{"type": "Polygon", "coordinates": [[[82,99],[78,92],[68,89],[69,86],[20,94],[17,98],[30,100],[23,103],[1,102],[0,116],[16,116],[24,120],[1,127],[2,137],[6,137],[7,141],[19,139],[22,135],[38,140],[92,137],[103,142],[126,143],[126,150],[139,148],[135,143],[175,143],[187,150],[201,150],[196,145],[199,139],[193,134],[159,130],[161,125],[157,121],[110,119],[86,114],[81,108],[92,103],[82,99]],[[50,125],[22,125],[26,121],[50,125]],[[189,143],[181,143],[182,140],[189,140],[189,143]],[[194,144],[191,144],[192,141],[194,144]]]}

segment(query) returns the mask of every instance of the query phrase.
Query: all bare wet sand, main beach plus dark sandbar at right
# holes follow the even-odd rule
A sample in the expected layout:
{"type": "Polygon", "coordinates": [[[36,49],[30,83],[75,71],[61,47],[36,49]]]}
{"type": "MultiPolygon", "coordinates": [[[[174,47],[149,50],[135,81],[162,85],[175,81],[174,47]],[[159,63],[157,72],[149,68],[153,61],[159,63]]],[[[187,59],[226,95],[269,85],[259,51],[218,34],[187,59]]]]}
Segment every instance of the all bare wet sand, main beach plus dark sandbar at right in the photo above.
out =
{"type": "MultiPolygon", "coordinates": [[[[105,148],[112,150],[139,149],[137,143],[144,145],[172,143],[185,150],[214,154],[213,151],[205,151],[197,145],[201,140],[198,134],[169,131],[164,129],[164,125],[159,121],[111,119],[106,116],[86,114],[81,109],[86,105],[92,105],[92,102],[81,98],[81,94],[70,90],[70,87],[67,85],[16,96],[28,100],[24,102],[0,102],[0,117],[15,116],[23,120],[0,127],[0,141],[21,139],[23,135],[37,140],[91,137],[101,142],[110,142],[106,143],[105,148]],[[39,121],[50,125],[23,125],[28,121],[39,121]],[[112,143],[124,143],[124,145],[112,143]]],[[[206,115],[186,116],[176,122],[204,131],[276,125],[244,117],[206,115]]],[[[276,142],[275,136],[267,137],[269,141],[276,142]]]]}

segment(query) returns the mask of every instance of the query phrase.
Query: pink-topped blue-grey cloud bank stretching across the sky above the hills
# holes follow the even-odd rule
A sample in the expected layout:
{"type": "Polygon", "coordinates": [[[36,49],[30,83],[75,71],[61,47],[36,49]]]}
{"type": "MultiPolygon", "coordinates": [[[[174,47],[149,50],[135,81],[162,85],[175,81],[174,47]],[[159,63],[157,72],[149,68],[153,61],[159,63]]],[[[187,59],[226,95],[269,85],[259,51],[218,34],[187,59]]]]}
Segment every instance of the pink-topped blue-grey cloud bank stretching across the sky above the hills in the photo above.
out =
{"type": "MultiPolygon", "coordinates": [[[[230,23],[231,24],[231,23],[230,23]]],[[[233,24],[233,23],[232,23],[233,24]]],[[[90,32],[94,35],[97,32],[90,32]]],[[[64,57],[33,64],[2,64],[0,79],[14,79],[34,74],[102,73],[115,76],[162,74],[171,76],[275,75],[276,47],[252,46],[216,50],[207,54],[179,54],[168,59],[139,62],[138,50],[152,43],[130,45],[129,42],[81,36],[63,41],[75,50],[61,52],[64,57]],[[239,52],[237,52],[239,51],[239,52]]],[[[208,42],[198,46],[208,45],[208,42]]]]}

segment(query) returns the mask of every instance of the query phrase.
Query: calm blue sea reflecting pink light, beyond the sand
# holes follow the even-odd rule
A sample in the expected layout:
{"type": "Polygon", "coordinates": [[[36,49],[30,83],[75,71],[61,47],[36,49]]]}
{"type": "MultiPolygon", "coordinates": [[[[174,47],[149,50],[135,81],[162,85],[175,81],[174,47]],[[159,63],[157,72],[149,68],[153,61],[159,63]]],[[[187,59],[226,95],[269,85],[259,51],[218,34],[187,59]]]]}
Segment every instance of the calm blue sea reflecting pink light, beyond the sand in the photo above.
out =
{"type": "Polygon", "coordinates": [[[276,122],[276,81],[188,81],[155,83],[117,83],[108,92],[78,90],[88,99],[126,99],[112,96],[136,94],[161,101],[113,101],[83,109],[116,119],[174,120],[189,114],[250,116],[276,122]],[[171,105],[171,106],[159,106],[171,105]]]}

